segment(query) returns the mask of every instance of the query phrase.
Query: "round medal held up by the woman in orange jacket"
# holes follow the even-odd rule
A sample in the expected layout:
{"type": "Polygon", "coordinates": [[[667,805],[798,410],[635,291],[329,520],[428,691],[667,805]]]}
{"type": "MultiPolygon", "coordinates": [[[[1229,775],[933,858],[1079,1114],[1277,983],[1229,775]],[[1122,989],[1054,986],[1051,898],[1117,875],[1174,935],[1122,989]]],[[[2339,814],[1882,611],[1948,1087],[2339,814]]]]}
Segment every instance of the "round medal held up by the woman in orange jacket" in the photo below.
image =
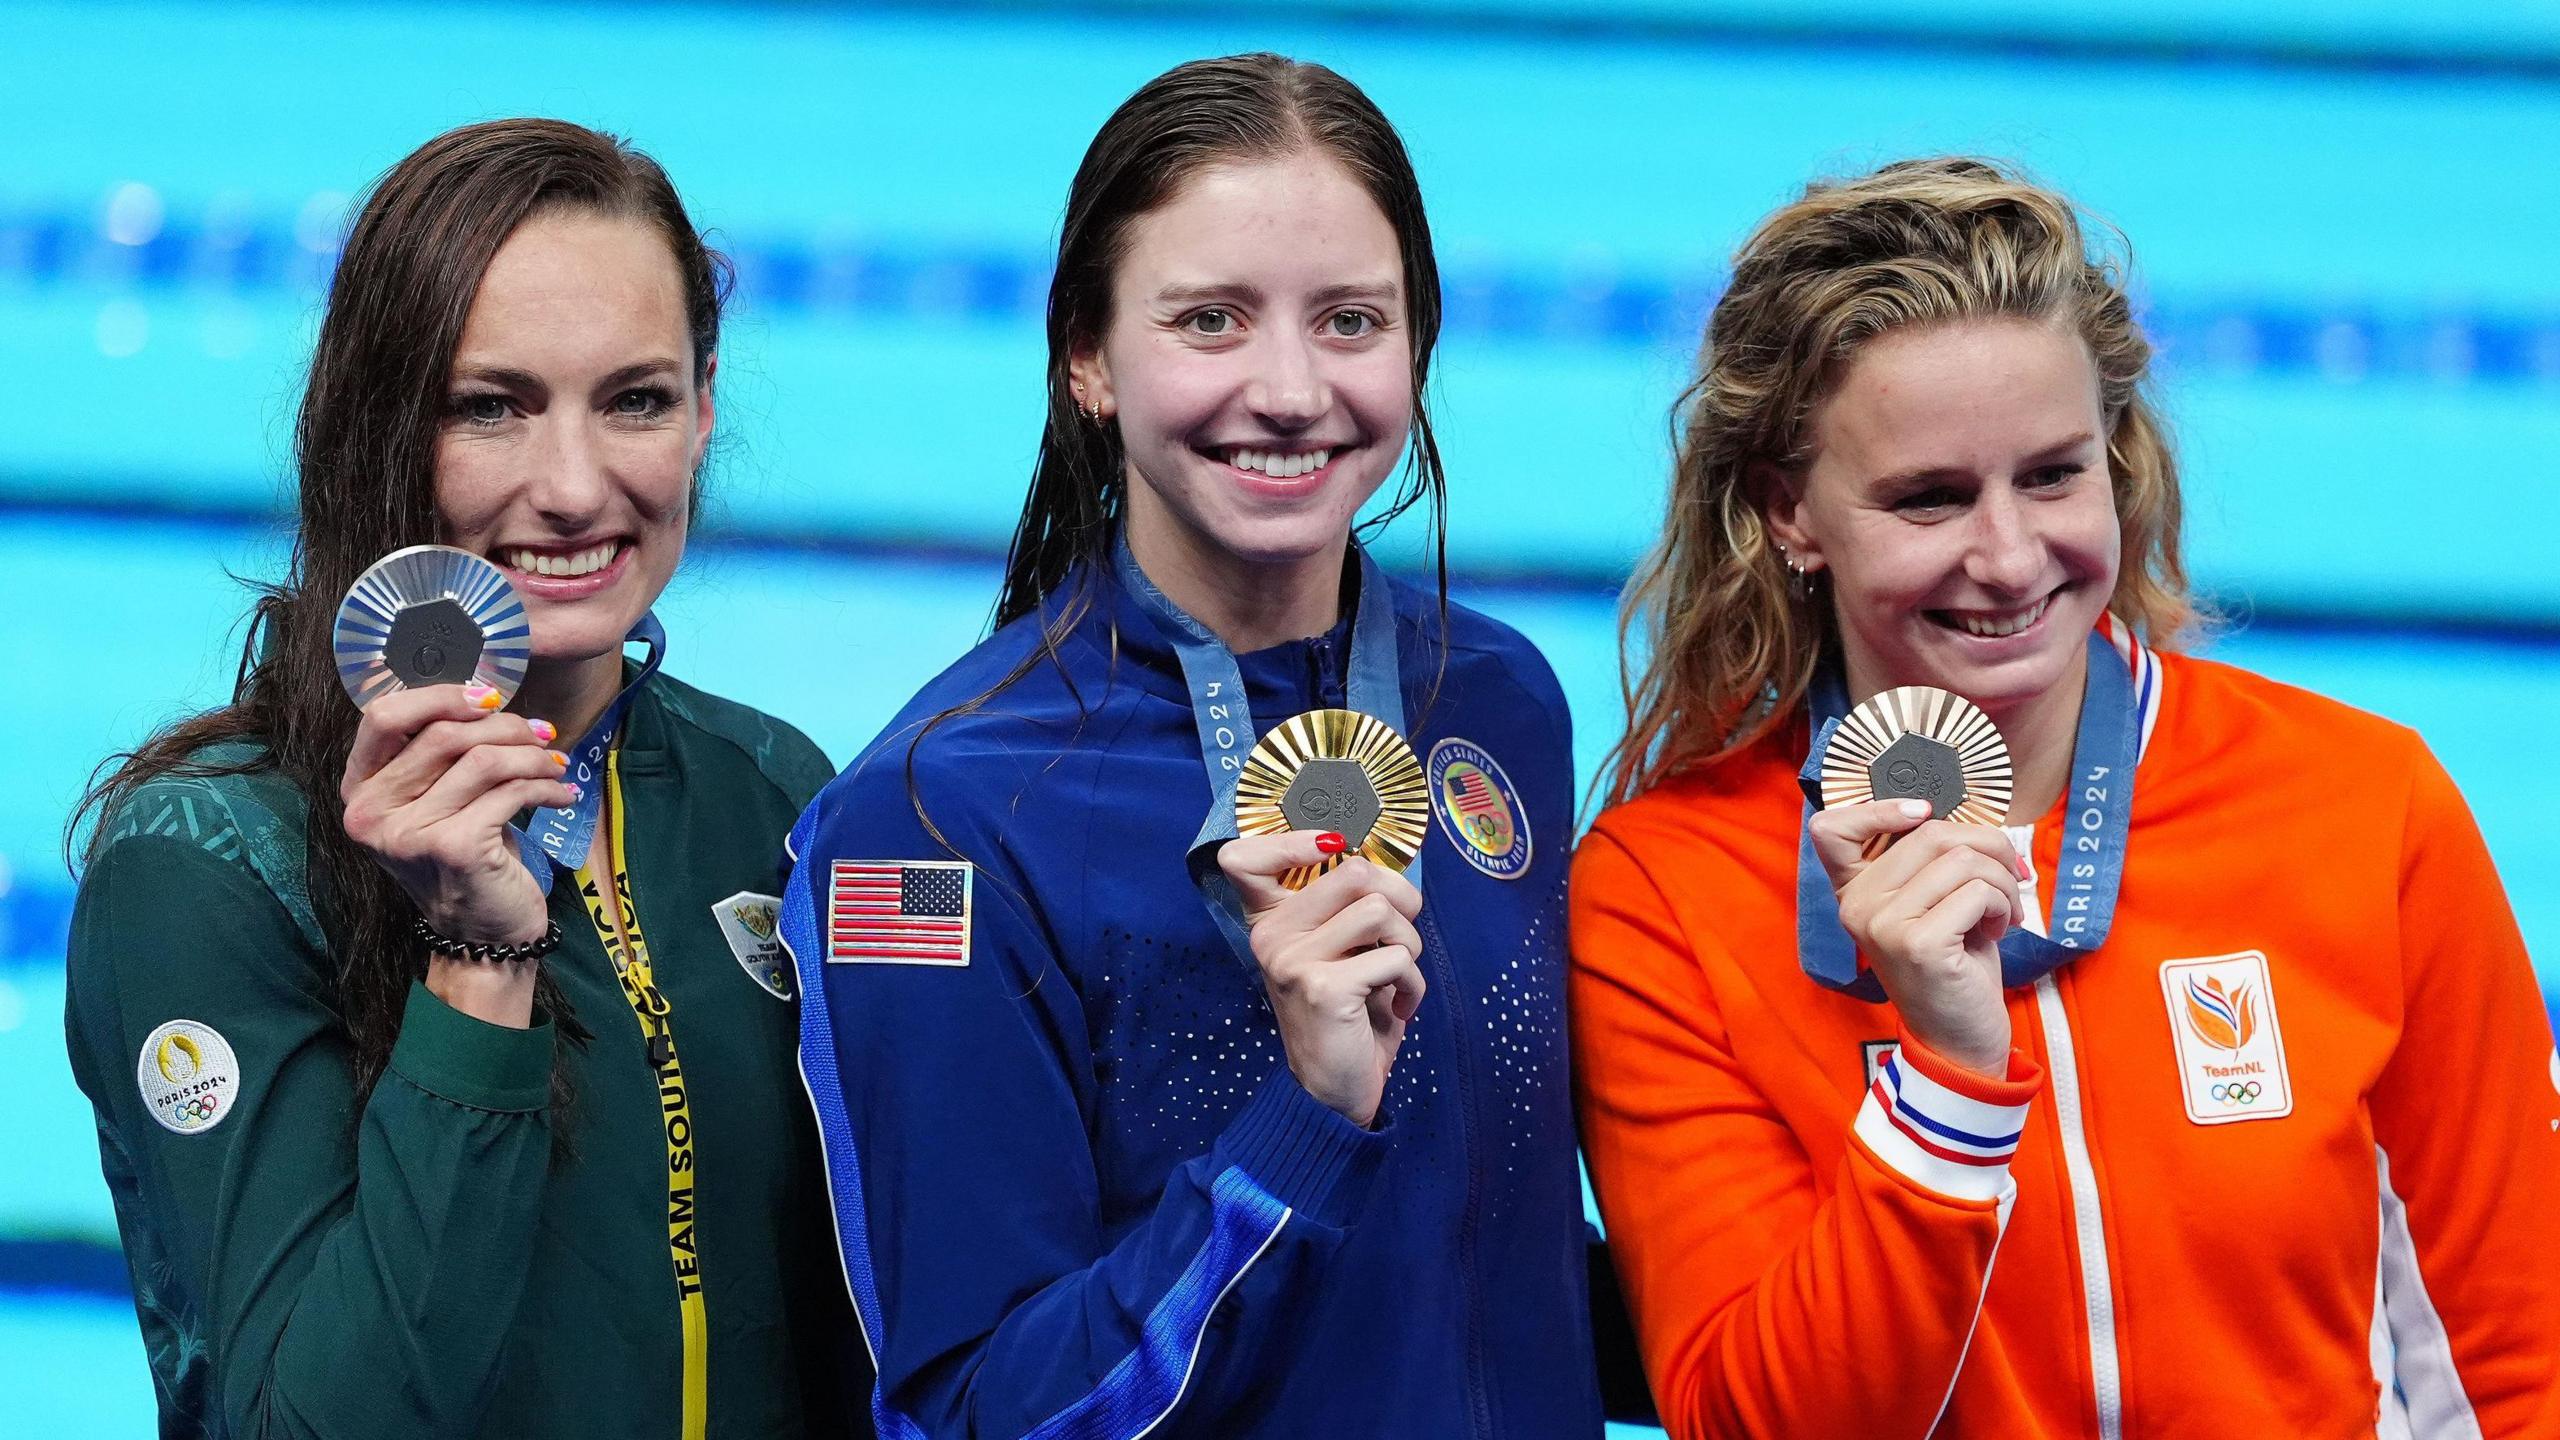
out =
{"type": "Polygon", "coordinates": [[[1869,799],[1925,799],[1933,820],[2010,817],[2010,743],[1961,694],[1905,684],[1841,717],[1823,746],[1823,810],[1869,799]]]}

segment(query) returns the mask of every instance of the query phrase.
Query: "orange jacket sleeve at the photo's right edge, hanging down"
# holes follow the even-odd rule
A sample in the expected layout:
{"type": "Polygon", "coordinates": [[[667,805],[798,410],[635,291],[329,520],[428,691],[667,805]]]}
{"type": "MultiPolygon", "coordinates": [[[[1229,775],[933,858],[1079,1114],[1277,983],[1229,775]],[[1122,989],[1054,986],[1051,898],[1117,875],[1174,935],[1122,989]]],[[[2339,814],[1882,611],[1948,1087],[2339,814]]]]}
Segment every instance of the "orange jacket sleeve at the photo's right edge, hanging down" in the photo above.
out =
{"type": "Polygon", "coordinates": [[[2394,1363],[2417,1435],[2560,1435],[2560,1061],[2470,810],[2424,748],[2412,769],[2371,1094],[2394,1363]]]}

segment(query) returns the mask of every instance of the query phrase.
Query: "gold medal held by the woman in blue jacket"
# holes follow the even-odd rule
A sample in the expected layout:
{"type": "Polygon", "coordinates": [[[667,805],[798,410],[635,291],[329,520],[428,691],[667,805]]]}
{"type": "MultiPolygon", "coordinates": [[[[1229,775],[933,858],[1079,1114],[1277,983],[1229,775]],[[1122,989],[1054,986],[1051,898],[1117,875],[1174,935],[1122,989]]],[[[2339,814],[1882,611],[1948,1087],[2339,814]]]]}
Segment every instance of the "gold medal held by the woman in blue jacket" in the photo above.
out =
{"type": "MultiPolygon", "coordinates": [[[[1308,710],[1272,725],[1236,779],[1239,835],[1331,830],[1349,843],[1347,853],[1390,871],[1413,863],[1428,822],[1431,787],[1413,746],[1359,710],[1308,710]]],[[[1298,866],[1280,884],[1303,889],[1341,861],[1298,866]]]]}

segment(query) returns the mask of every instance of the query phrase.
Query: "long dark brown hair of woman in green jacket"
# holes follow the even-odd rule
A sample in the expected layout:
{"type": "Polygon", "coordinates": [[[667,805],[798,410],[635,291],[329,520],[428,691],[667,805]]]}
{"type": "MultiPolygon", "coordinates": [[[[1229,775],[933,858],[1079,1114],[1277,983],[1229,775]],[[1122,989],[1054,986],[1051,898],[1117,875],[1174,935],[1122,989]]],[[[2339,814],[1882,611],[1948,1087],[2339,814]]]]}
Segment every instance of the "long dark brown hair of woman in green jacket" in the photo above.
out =
{"type": "MultiPolygon", "coordinates": [[[[358,1094],[392,1056],[410,981],[425,961],[417,910],[340,825],[338,776],[356,707],[338,687],[330,628],[338,597],[384,553],[440,541],[435,436],[453,348],[489,259],[527,218],[589,210],[655,228],[684,279],[694,382],[719,346],[727,261],[701,243],[666,172],[637,149],[563,120],[489,120],[435,136],[369,192],[338,256],[328,313],[294,423],[300,528],[279,584],[261,584],[230,705],[179,720],[100,766],[72,812],[67,848],[87,853],[90,820],[156,779],[276,771],[307,807],[315,917],[335,966],[358,1094]],[[251,740],[256,761],[207,764],[207,746],[251,740]]],[[[545,971],[540,1004],[581,1040],[545,971]]],[[[566,1099],[561,1081],[556,1097],[566,1099]]]]}

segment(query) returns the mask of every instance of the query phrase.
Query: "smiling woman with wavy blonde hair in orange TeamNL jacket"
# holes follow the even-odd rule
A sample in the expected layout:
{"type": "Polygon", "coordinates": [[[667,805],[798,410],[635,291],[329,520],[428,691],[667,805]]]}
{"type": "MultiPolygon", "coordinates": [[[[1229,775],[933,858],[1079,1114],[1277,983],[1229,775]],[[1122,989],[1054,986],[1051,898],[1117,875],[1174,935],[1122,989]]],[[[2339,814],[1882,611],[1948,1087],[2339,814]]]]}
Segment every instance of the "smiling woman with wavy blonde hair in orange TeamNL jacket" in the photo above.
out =
{"type": "Polygon", "coordinates": [[[2176,653],[2148,364],[2071,202],[1981,161],[1736,256],[1574,861],[1674,1435],[2560,1432],[2560,1061],[2499,876],[2417,735],[2176,653]],[[1812,810],[1897,687],[1999,728],[2004,825],[1812,810]]]}

